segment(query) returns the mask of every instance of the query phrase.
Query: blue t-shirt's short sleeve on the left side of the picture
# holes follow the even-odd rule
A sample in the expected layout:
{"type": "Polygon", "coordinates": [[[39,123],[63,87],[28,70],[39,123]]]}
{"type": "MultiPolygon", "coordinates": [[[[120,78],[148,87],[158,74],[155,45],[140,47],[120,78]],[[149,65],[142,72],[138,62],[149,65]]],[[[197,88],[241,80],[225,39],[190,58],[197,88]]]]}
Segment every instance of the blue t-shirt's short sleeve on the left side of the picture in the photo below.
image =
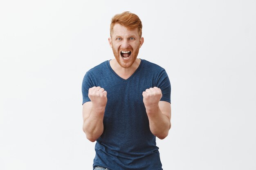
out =
{"type": "Polygon", "coordinates": [[[93,87],[92,79],[90,77],[90,73],[87,72],[85,76],[83,77],[83,83],[82,83],[82,95],[83,95],[83,103],[90,102],[90,98],[88,97],[88,91],[89,88],[93,87]]]}

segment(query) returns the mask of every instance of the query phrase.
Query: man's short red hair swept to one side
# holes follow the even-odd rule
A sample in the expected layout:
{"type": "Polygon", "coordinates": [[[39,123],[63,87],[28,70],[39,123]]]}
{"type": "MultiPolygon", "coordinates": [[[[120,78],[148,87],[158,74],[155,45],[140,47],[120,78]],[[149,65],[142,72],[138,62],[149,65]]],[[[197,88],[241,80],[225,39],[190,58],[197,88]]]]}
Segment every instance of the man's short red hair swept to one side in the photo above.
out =
{"type": "Polygon", "coordinates": [[[142,35],[141,20],[134,13],[130,13],[130,12],[126,11],[126,12],[115,15],[111,20],[110,35],[111,35],[111,31],[112,31],[113,27],[115,26],[115,24],[121,24],[122,26],[125,26],[130,30],[134,30],[134,29],[138,28],[139,37],[141,37],[141,35],[142,35]]]}

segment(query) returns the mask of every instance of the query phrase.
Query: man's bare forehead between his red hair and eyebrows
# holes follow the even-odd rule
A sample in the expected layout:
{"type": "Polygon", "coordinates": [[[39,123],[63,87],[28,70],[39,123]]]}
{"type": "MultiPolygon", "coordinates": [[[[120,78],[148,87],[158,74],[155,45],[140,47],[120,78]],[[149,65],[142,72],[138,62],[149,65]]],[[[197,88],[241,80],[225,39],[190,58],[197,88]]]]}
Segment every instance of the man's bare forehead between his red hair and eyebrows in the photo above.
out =
{"type": "Polygon", "coordinates": [[[127,27],[122,26],[121,24],[115,24],[111,33],[112,33],[113,36],[116,36],[116,35],[119,35],[119,36],[129,36],[129,35],[139,36],[138,28],[130,30],[127,27]]]}

